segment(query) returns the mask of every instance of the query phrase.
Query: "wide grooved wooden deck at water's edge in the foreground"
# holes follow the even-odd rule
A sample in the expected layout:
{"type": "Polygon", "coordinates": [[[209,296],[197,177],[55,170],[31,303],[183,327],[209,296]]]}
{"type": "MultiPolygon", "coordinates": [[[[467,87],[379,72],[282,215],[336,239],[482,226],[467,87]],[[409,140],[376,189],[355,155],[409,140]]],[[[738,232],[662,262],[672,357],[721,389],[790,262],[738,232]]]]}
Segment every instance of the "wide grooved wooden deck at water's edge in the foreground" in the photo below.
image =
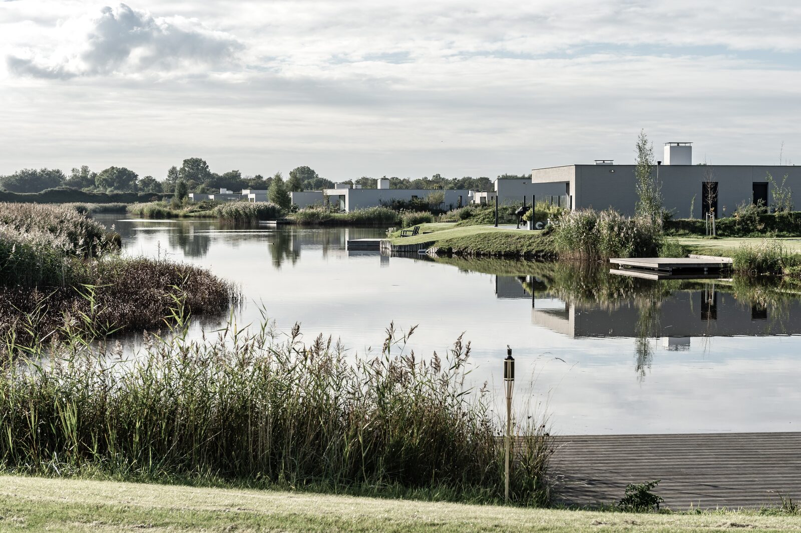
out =
{"type": "Polygon", "coordinates": [[[555,503],[617,503],[628,483],[661,479],[671,509],[781,506],[801,501],[801,432],[557,437],[555,503]]]}

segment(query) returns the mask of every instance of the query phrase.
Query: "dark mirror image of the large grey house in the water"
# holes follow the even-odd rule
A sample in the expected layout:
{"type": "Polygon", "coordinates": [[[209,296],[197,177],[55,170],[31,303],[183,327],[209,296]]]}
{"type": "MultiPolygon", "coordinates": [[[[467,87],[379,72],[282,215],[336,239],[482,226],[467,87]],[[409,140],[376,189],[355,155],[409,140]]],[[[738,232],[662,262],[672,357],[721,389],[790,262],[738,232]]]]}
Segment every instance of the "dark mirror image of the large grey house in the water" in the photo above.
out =
{"type": "MultiPolygon", "coordinates": [[[[498,298],[529,299],[531,322],[570,337],[639,337],[644,307],[650,303],[622,299],[605,307],[566,303],[548,291],[525,290],[525,278],[497,276],[498,298]],[[514,285],[517,284],[519,289],[514,285]]],[[[533,277],[525,282],[535,285],[533,277]],[[534,283],[532,283],[534,282],[534,283]]],[[[667,350],[682,350],[691,337],[801,335],[801,299],[776,307],[742,302],[709,283],[702,289],[678,290],[655,303],[648,315],[648,337],[662,339],[667,350]]]]}

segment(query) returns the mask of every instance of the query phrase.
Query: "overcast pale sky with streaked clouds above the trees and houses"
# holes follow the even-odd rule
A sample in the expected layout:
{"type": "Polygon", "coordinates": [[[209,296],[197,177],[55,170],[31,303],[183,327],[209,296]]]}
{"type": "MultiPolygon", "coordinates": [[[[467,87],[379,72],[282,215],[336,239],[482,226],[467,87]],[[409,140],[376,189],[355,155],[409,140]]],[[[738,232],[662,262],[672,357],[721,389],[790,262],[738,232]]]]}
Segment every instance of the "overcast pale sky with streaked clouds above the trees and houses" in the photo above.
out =
{"type": "Polygon", "coordinates": [[[801,3],[0,0],[0,174],[801,163],[801,3]]]}

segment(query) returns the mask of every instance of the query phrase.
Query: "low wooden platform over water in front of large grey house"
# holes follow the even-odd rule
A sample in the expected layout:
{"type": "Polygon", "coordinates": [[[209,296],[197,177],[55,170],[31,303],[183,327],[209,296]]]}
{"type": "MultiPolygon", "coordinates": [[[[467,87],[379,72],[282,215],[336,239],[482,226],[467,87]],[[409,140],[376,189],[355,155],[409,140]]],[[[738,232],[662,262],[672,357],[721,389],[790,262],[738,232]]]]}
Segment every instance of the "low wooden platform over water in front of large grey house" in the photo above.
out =
{"type": "Polygon", "coordinates": [[[643,279],[718,277],[732,264],[729,257],[694,254],[688,257],[612,258],[609,262],[619,267],[610,270],[612,274],[643,279]]]}

